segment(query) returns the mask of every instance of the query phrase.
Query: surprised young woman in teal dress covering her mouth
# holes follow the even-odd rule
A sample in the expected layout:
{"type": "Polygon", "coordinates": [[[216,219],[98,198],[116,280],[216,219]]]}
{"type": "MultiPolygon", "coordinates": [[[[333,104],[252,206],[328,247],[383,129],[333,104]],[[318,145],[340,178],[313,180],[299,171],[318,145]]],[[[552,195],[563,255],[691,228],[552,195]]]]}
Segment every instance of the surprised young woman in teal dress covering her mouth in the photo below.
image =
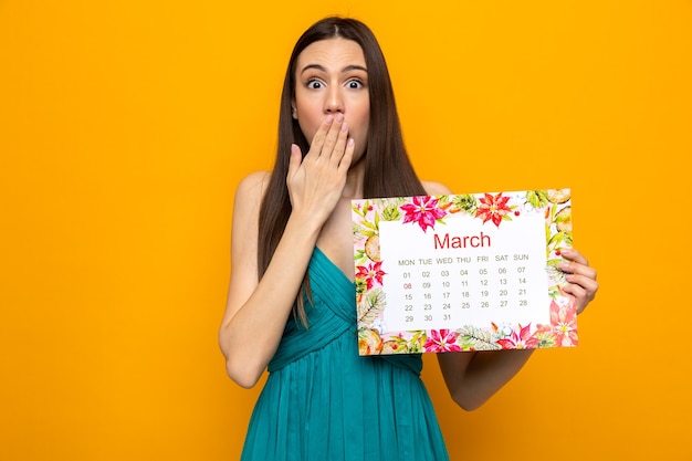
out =
{"type": "MultiPolygon", "coordinates": [[[[272,172],[239,185],[232,271],[219,333],[231,379],[269,377],[242,460],[445,460],[420,355],[361,357],[350,200],[448,195],[409,161],[391,82],[371,31],[326,18],[297,41],[284,80],[272,172]]],[[[596,271],[565,250],[578,312],[596,271]]],[[[483,404],[531,350],[439,354],[453,400],[483,404]]]]}

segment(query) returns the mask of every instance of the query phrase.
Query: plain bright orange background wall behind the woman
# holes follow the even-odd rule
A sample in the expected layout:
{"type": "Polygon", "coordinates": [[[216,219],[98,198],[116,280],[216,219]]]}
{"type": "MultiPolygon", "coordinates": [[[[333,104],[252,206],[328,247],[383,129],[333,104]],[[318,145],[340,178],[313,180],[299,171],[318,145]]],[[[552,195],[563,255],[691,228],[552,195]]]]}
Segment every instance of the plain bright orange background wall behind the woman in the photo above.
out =
{"type": "Polygon", "coordinates": [[[692,460],[692,3],[235,3],[0,0],[0,460],[238,458],[233,191],[328,13],[378,35],[422,178],[570,187],[599,271],[580,346],[478,411],[426,357],[452,459],[692,460]]]}

